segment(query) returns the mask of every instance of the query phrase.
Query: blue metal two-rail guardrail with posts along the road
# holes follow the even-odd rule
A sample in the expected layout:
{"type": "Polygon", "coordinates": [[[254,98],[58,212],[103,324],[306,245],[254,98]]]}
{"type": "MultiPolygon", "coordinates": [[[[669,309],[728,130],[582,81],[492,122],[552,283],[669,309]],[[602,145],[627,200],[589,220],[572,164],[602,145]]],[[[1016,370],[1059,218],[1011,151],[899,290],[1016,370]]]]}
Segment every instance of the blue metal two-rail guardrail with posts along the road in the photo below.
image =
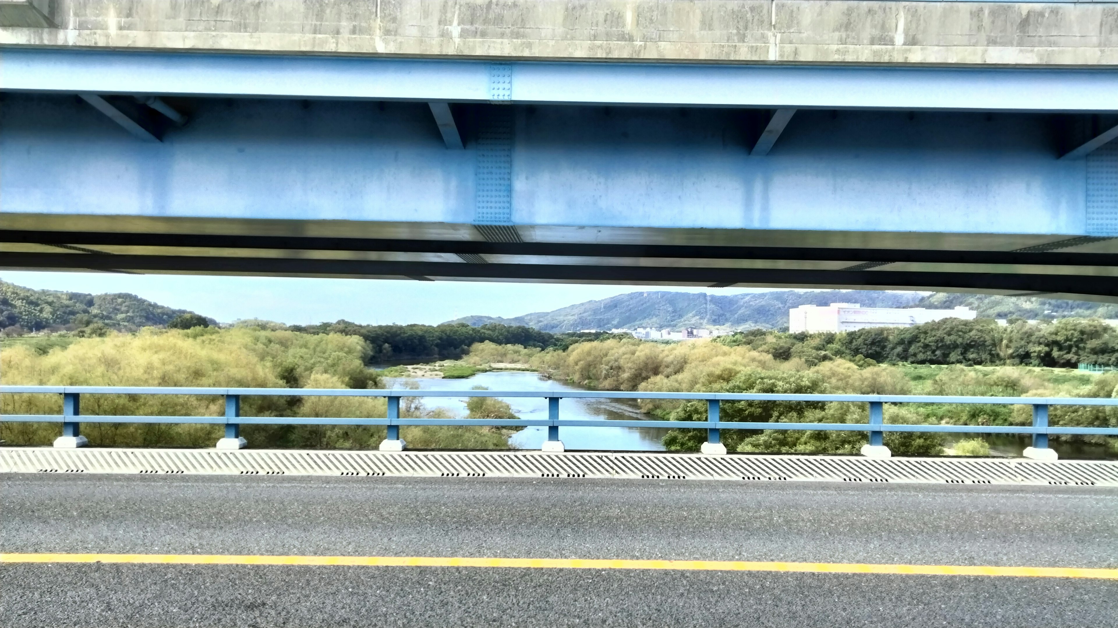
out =
{"type": "Polygon", "coordinates": [[[388,440],[399,439],[400,425],[546,425],[548,440],[559,440],[563,427],[625,427],[625,428],[682,428],[705,429],[708,442],[718,443],[720,430],[845,430],[869,432],[870,444],[881,446],[884,432],[958,432],[989,434],[1032,434],[1033,447],[1046,449],[1049,434],[1118,435],[1118,428],[1050,427],[1050,405],[1118,405],[1118,399],[1108,397],[963,397],[932,395],[819,395],[767,393],[653,393],[614,391],[419,391],[419,390],[350,390],[350,388],[171,388],[129,386],[0,386],[0,394],[60,394],[61,414],[0,414],[0,421],[61,422],[65,437],[77,438],[82,422],[97,423],[214,423],[224,424],[226,438],[240,435],[245,424],[297,425],[387,425],[388,440]],[[225,397],[225,416],[138,416],[80,414],[83,394],[129,395],[214,395],[225,397]],[[358,418],[286,418],[241,416],[241,396],[357,396],[387,397],[388,416],[383,419],[358,418]],[[406,419],[400,416],[400,397],[543,397],[548,400],[547,419],[406,419]],[[614,421],[605,419],[560,419],[561,399],[646,399],[705,401],[707,421],[614,421]],[[869,423],[747,423],[719,420],[721,402],[736,401],[799,401],[869,403],[869,423]],[[1031,405],[1032,425],[911,425],[884,423],[887,403],[947,403],[1031,405]]]}

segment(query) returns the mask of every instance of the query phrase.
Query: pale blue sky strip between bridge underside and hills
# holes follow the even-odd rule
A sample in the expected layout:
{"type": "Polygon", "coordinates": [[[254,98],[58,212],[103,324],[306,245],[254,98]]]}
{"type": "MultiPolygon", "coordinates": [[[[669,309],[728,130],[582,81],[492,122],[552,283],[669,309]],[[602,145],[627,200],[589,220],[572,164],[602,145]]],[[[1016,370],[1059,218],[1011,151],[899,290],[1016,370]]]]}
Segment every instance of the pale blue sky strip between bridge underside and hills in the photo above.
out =
{"type": "Polygon", "coordinates": [[[172,308],[231,322],[264,318],[288,325],[352,320],[368,325],[439,322],[470,315],[515,317],[643,290],[738,294],[749,288],[674,288],[392,281],[275,276],[207,276],[0,271],[0,279],[27,288],[72,292],[131,292],[172,308]]]}

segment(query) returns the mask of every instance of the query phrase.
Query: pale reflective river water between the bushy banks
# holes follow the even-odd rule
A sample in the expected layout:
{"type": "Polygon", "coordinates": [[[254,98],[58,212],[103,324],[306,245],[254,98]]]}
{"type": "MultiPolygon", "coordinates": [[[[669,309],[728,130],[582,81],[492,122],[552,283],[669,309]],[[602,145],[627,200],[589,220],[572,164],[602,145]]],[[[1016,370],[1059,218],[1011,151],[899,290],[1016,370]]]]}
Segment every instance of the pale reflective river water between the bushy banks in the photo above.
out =
{"type": "MultiPolygon", "coordinates": [[[[466,379],[408,379],[386,377],[386,387],[401,388],[405,382],[415,382],[424,391],[468,391],[485,386],[492,391],[577,391],[536,373],[505,371],[479,373],[466,379]]],[[[509,397],[513,412],[521,419],[547,419],[548,400],[540,397],[509,397]]],[[[458,416],[466,415],[466,396],[424,397],[427,407],[445,407],[458,416]]],[[[559,402],[560,419],[647,419],[641,414],[634,400],[565,399],[559,402]]],[[[661,428],[559,428],[559,439],[567,449],[598,449],[612,451],[663,451],[661,440],[667,430],[661,428]]],[[[524,428],[509,439],[519,449],[539,449],[548,438],[544,427],[524,428]]]]}

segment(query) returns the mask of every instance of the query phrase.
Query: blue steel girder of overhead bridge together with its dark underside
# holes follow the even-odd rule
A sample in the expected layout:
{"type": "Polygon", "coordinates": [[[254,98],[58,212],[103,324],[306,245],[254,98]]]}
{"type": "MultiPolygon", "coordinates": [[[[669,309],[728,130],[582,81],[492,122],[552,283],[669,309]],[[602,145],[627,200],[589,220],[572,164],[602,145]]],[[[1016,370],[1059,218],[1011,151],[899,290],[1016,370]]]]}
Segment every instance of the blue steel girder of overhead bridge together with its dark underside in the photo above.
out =
{"type": "MultiPolygon", "coordinates": [[[[1054,74],[1011,74],[996,93],[983,85],[1005,77],[986,71],[885,75],[906,93],[883,107],[844,94],[865,78],[843,68],[812,69],[831,92],[773,96],[737,68],[733,88],[661,77],[661,95],[625,91],[642,102],[605,87],[606,102],[563,102],[561,85],[532,87],[538,66],[451,64],[479,88],[413,72],[411,91],[237,94],[220,68],[53,84],[65,58],[20,75],[3,55],[0,268],[1118,300],[1118,120],[1025,97],[1060,87],[1054,74]]],[[[93,58],[126,74],[141,57],[93,58]]]]}

